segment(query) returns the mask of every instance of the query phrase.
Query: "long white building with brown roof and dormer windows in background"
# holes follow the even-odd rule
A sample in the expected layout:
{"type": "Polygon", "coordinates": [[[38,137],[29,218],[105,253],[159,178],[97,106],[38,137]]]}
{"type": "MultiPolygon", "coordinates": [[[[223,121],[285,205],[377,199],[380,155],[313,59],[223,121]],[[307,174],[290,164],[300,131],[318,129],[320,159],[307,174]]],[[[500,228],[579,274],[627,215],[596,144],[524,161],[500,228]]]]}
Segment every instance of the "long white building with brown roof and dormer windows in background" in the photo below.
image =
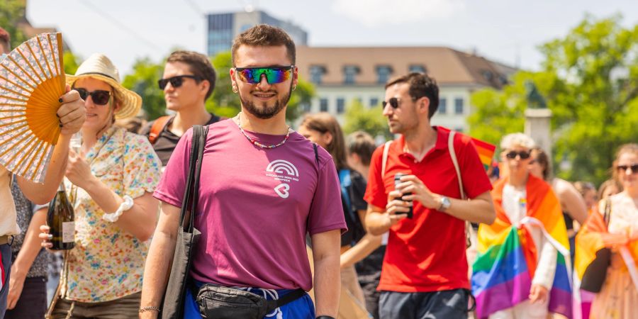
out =
{"type": "Polygon", "coordinates": [[[500,89],[516,70],[449,47],[297,47],[302,79],[315,84],[316,97],[304,111],[327,111],[342,121],[350,101],[381,107],[384,84],[408,72],[437,80],[440,103],[435,125],[466,132],[470,96],[485,87],[500,89]]]}

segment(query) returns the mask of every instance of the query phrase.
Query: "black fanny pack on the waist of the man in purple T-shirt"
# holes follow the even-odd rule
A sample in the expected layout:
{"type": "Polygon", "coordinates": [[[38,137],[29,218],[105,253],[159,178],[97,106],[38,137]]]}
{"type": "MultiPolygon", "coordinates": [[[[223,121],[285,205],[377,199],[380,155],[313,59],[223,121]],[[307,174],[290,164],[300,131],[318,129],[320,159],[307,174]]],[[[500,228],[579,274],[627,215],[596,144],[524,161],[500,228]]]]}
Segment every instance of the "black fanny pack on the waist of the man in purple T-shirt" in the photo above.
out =
{"type": "Polygon", "coordinates": [[[306,294],[296,289],[276,300],[241,289],[203,284],[199,289],[191,285],[193,296],[203,318],[215,319],[262,319],[272,310],[301,298],[306,294]]]}

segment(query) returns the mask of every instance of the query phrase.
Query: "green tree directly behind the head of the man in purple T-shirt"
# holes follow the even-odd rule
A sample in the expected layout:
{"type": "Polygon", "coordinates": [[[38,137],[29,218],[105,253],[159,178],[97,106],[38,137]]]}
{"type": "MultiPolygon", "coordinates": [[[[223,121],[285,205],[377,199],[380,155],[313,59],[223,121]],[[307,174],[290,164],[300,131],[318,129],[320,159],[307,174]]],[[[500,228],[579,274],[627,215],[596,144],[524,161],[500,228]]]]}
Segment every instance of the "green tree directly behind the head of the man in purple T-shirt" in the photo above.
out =
{"type": "MultiPolygon", "coordinates": [[[[233,67],[230,52],[220,52],[211,62],[217,71],[217,83],[213,98],[206,102],[206,109],[220,116],[233,117],[241,111],[241,101],[230,85],[230,68],[233,67]]],[[[292,123],[301,116],[301,106],[309,105],[313,96],[315,96],[314,86],[310,82],[299,79],[286,109],[286,121],[292,123]]]]}

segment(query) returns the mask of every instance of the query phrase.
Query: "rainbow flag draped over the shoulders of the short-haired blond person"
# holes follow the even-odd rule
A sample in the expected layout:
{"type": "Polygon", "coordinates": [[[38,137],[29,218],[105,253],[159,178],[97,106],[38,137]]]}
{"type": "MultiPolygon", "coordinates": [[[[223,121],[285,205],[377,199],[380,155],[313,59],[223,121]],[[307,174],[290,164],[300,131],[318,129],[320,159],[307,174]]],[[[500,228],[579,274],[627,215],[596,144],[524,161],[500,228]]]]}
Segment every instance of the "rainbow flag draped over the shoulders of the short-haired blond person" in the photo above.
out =
{"type": "Polygon", "coordinates": [[[538,251],[527,231],[540,227],[544,237],[559,252],[549,311],[572,317],[569,242],[558,199],[542,179],[527,181],[527,216],[515,228],[503,211],[505,179],[494,185],[492,197],[496,220],[478,228],[478,256],[473,265],[472,293],[476,297],[478,318],[488,318],[498,310],[511,308],[527,300],[535,273],[538,251]]]}

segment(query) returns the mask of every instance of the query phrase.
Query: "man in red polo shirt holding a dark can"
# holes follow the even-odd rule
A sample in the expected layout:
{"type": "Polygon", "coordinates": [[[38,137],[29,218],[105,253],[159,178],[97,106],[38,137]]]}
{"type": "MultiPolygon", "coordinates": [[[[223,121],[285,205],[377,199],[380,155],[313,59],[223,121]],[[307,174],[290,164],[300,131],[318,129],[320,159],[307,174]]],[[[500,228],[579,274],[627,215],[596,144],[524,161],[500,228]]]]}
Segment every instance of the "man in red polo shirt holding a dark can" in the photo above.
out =
{"type": "Polygon", "coordinates": [[[368,231],[389,230],[379,284],[381,318],[467,318],[465,220],[489,224],[496,216],[483,164],[471,139],[461,134],[454,136],[454,151],[469,200],[459,199],[450,131],[430,126],[438,103],[437,84],[425,74],[386,84],[384,116],[401,138],[389,145],[385,165],[383,146],[372,155],[365,195],[368,231]],[[406,176],[395,187],[398,173],[406,176]],[[410,206],[413,217],[407,218],[410,206]]]}

